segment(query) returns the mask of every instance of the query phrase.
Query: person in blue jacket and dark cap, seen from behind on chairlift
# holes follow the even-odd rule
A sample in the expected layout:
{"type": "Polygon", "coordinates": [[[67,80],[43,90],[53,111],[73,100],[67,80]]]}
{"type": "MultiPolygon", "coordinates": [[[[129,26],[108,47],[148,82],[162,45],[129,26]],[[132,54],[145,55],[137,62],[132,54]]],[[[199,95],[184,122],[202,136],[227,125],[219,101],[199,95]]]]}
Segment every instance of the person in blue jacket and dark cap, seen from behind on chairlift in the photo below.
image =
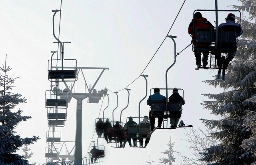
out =
{"type": "MultiPolygon", "coordinates": [[[[160,89],[159,89],[159,88],[155,88],[155,89],[154,89],[154,94],[152,94],[152,95],[150,95],[150,96],[148,97],[147,104],[148,104],[149,106],[151,106],[151,103],[152,103],[153,101],[162,101],[163,104],[166,103],[166,97],[160,94],[160,89]]],[[[154,130],[154,128],[155,128],[155,121],[156,121],[156,118],[155,118],[155,117],[152,117],[152,112],[151,112],[151,111],[149,112],[149,120],[150,120],[151,131],[152,131],[152,130],[154,130]]],[[[163,117],[158,117],[158,128],[161,128],[162,122],[163,122],[163,117]]]]}

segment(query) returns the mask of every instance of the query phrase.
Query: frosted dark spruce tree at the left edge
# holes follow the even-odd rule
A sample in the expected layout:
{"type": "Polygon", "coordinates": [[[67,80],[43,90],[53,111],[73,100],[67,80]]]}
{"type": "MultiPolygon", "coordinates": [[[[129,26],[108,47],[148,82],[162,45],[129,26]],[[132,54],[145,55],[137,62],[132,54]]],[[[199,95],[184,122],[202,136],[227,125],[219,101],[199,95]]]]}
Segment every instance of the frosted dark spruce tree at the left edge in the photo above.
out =
{"type": "Polygon", "coordinates": [[[38,137],[20,138],[14,129],[21,121],[26,121],[31,116],[21,116],[22,110],[13,112],[18,104],[25,103],[26,99],[21,94],[10,92],[15,79],[8,77],[7,72],[12,68],[5,65],[0,67],[0,165],[26,165],[28,161],[16,154],[19,147],[37,141],[38,137]]]}

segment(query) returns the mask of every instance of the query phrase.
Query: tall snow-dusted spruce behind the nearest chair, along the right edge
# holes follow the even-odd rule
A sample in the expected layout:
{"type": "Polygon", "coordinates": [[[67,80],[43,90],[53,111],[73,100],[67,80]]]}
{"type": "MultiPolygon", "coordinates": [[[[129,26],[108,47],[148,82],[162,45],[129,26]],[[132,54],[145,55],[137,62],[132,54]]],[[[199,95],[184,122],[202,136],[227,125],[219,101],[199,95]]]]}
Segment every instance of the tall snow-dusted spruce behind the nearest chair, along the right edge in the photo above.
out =
{"type": "Polygon", "coordinates": [[[228,66],[226,81],[205,81],[224,89],[220,94],[204,94],[214,101],[204,101],[206,109],[221,116],[220,120],[202,120],[211,134],[220,141],[205,149],[202,161],[210,165],[250,165],[256,161],[256,1],[239,0],[242,6],[233,6],[242,12],[244,30],[238,42],[238,51],[228,66]]]}

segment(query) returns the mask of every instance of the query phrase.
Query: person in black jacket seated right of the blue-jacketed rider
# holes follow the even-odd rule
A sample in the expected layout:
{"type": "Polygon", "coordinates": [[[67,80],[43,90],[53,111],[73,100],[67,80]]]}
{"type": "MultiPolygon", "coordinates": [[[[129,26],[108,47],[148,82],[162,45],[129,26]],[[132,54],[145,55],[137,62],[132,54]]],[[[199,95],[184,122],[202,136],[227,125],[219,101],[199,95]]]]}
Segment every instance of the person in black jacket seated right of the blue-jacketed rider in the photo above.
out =
{"type": "MultiPolygon", "coordinates": [[[[169,102],[171,101],[180,101],[181,105],[185,104],[185,100],[183,99],[182,96],[180,96],[177,88],[173,89],[172,95],[169,97],[169,102]]],[[[180,120],[180,117],[171,117],[170,118],[171,127],[177,127],[179,120],[180,120]]]]}

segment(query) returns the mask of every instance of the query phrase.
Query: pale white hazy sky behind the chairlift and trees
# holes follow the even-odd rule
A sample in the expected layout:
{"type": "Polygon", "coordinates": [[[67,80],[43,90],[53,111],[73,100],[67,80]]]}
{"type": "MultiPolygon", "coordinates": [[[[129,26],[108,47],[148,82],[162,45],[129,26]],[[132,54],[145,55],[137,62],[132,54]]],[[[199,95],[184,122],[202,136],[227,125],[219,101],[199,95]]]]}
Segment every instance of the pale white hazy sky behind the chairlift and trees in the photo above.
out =
{"type": "MultiPolygon", "coordinates": [[[[193,18],[193,11],[196,9],[214,9],[215,0],[186,0],[178,19],[176,20],[169,35],[177,36],[176,51],[180,52],[190,44],[191,37],[188,35],[188,25],[193,18]]],[[[105,87],[117,91],[125,88],[136,79],[151,57],[154,55],[160,43],[167,35],[176,14],[178,13],[183,0],[74,0],[62,1],[62,15],[60,40],[71,41],[65,44],[65,57],[77,59],[78,67],[109,67],[105,71],[96,89],[105,87]]],[[[218,2],[219,9],[230,9],[228,5],[238,3],[234,0],[218,2]]],[[[51,57],[50,51],[57,51],[57,44],[52,35],[52,10],[60,9],[60,0],[12,0],[1,1],[0,5],[0,61],[4,64],[7,54],[7,65],[12,67],[10,77],[20,77],[14,85],[12,92],[20,93],[27,99],[27,104],[18,105],[17,108],[24,110],[22,115],[32,116],[32,119],[21,122],[16,132],[22,138],[39,136],[38,142],[30,145],[34,152],[30,163],[45,163],[44,149],[47,147],[46,132],[47,108],[44,107],[44,95],[50,90],[48,81],[47,65],[51,57]]],[[[213,12],[202,12],[214,24],[215,14],[213,12]]],[[[223,22],[227,13],[220,14],[219,22],[223,22]]],[[[55,18],[58,27],[59,13],[55,18]]],[[[58,28],[56,28],[58,34],[58,28]]],[[[149,89],[154,87],[165,88],[166,69],[174,61],[174,45],[170,38],[167,38],[146,71],[148,75],[149,89]]],[[[199,118],[214,118],[209,110],[204,110],[200,105],[206,100],[201,94],[220,92],[212,86],[202,83],[204,80],[214,79],[216,70],[195,71],[195,57],[190,46],[180,53],[176,64],[168,72],[168,87],[183,88],[185,105],[183,106],[182,120],[185,124],[192,124],[194,128],[204,126],[199,118]]],[[[98,77],[97,71],[86,71],[86,81],[93,84],[98,77]]],[[[78,77],[79,79],[79,77],[78,77]]],[[[63,83],[60,83],[60,86],[63,83]]],[[[78,92],[83,92],[84,83],[78,81],[78,92]]],[[[64,88],[63,86],[61,87],[64,88]]],[[[138,116],[138,103],[145,95],[145,80],[140,77],[128,87],[130,90],[130,102],[128,108],[122,113],[122,120],[128,116],[138,116]]],[[[112,110],[116,107],[116,95],[111,91],[110,103],[105,111],[105,117],[112,118],[112,110]]],[[[165,95],[165,92],[161,92],[165,95]]],[[[169,92],[169,95],[171,92],[169,92]]],[[[121,110],[127,104],[127,92],[122,90],[118,94],[119,106],[114,112],[115,119],[119,120],[121,110]]],[[[148,96],[147,96],[148,97],[148,96]]],[[[102,111],[107,102],[104,99],[102,111]]],[[[88,104],[87,99],[83,102],[83,134],[82,147],[83,155],[86,155],[90,147],[90,141],[94,132],[95,118],[100,112],[99,104],[88,104]]],[[[148,115],[149,107],[146,100],[141,104],[141,116],[148,115]]],[[[102,111],[100,117],[102,117],[102,111]]],[[[75,140],[75,118],[76,100],[72,98],[68,105],[68,120],[65,127],[56,128],[62,132],[62,140],[75,140]]],[[[174,151],[189,156],[190,151],[186,149],[184,141],[184,129],[157,130],[150,139],[146,149],[130,148],[116,149],[110,146],[115,143],[106,144],[102,138],[99,145],[105,145],[105,158],[100,159],[104,165],[116,165],[122,161],[123,165],[146,164],[154,161],[157,165],[158,158],[167,157],[162,154],[168,146],[166,145],[172,137],[174,151]]],[[[96,135],[93,138],[97,141],[96,135]]],[[[22,154],[22,151],[18,151],[22,154]]],[[[176,163],[182,161],[175,154],[176,163]]]]}

